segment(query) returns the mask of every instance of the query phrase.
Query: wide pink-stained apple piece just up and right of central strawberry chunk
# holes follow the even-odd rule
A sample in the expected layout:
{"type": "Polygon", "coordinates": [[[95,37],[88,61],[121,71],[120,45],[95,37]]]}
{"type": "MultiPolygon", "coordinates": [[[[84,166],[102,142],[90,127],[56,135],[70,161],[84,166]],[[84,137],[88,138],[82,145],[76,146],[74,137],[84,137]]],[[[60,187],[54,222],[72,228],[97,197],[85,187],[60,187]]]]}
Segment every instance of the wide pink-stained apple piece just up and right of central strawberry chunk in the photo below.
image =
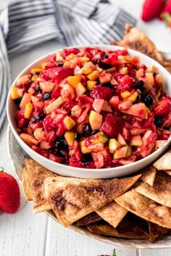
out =
{"type": "Polygon", "coordinates": [[[120,110],[121,112],[129,115],[134,115],[135,117],[140,117],[142,119],[147,119],[148,118],[148,108],[146,105],[142,102],[133,104],[130,106],[128,110],[120,110]]]}

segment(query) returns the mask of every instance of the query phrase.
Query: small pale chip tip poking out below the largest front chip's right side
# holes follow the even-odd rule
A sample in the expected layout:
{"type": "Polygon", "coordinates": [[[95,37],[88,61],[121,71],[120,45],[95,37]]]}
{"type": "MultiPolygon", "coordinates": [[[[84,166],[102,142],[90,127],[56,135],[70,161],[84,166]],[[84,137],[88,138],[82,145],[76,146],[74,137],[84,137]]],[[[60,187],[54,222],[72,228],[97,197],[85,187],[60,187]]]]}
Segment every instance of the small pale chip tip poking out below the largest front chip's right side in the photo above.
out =
{"type": "Polygon", "coordinates": [[[101,216],[101,218],[103,218],[110,225],[116,228],[122,220],[122,218],[125,217],[128,210],[118,205],[117,202],[112,201],[109,202],[108,205],[104,205],[104,207],[101,207],[99,210],[96,210],[96,212],[101,216]]]}

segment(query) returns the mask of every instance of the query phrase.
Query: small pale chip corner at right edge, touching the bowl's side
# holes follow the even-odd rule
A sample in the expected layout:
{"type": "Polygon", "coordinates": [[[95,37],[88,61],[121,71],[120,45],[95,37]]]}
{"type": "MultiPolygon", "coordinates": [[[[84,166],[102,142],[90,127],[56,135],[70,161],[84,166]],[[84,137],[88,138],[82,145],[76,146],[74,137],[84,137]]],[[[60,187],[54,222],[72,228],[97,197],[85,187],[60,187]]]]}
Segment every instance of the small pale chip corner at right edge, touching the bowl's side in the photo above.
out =
{"type": "Polygon", "coordinates": [[[166,152],[153,165],[157,170],[171,170],[171,150],[166,152]]]}

